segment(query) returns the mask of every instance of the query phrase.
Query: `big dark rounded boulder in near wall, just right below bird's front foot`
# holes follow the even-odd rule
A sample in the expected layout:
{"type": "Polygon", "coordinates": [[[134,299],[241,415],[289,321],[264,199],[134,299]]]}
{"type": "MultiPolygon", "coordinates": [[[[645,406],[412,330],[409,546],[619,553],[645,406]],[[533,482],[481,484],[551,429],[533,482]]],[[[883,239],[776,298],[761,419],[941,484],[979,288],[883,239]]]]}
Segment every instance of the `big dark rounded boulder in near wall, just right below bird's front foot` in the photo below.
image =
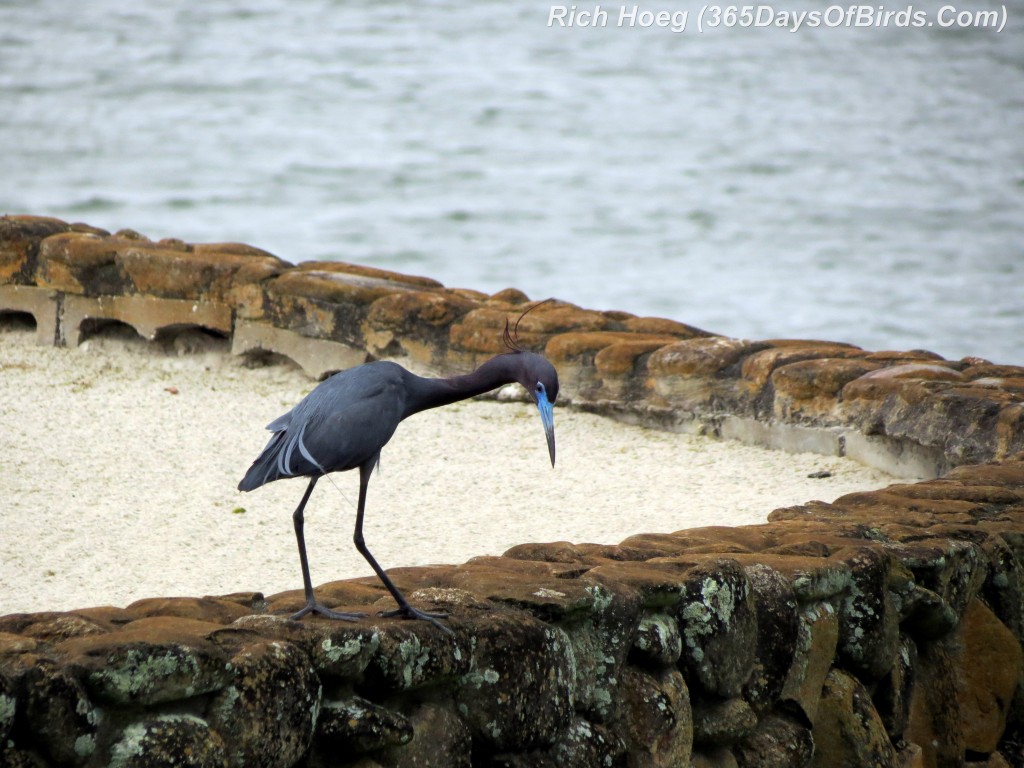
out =
{"type": "Polygon", "coordinates": [[[472,637],[472,667],[456,700],[474,739],[494,752],[552,744],[572,713],[575,659],[565,633],[495,611],[473,622],[472,637]]]}

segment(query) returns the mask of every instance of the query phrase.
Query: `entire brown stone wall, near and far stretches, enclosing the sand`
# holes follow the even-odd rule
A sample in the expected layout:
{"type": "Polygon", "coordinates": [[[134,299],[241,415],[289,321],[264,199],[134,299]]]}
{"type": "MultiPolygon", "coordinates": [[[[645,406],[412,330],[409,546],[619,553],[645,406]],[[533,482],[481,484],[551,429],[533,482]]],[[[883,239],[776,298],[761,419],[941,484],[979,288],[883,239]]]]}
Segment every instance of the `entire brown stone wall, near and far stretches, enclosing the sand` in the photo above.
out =
{"type": "MultiPolygon", "coordinates": [[[[49,344],[198,326],[312,376],[454,371],[501,351],[526,301],[0,218],[0,312],[49,344]]],[[[1024,369],[557,301],[519,338],[578,408],[942,476],[390,571],[452,635],[373,617],[373,579],[318,588],[357,624],[283,618],[292,592],[2,616],[0,765],[1024,765],[1024,369]]]]}

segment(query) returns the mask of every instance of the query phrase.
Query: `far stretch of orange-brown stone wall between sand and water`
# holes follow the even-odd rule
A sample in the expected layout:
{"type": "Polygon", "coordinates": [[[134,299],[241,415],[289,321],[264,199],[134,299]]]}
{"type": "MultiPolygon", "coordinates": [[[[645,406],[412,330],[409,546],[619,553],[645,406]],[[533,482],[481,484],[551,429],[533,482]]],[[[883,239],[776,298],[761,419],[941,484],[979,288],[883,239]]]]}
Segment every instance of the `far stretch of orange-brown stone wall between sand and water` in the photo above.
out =
{"type": "MultiPolygon", "coordinates": [[[[528,304],[514,289],[488,297],[356,264],[293,266],[237,243],[153,242],[130,229],[111,234],[39,216],[0,217],[0,283],[52,289],[57,301],[219,302],[265,326],[257,337],[294,334],[270,351],[308,356],[302,340],[315,339],[425,372],[468,370],[503,351],[506,322],[528,304]]],[[[132,311],[123,322],[134,325],[132,311]]],[[[74,335],[58,329],[52,337],[74,335]]],[[[557,300],[523,316],[516,337],[555,360],[578,404],[631,421],[770,445],[792,441],[798,429],[811,450],[849,449],[905,471],[938,473],[1024,451],[1024,367],[826,341],[728,339],[557,300]],[[737,418],[759,428],[730,428],[737,418]]],[[[302,365],[311,376],[324,373],[302,365]]]]}

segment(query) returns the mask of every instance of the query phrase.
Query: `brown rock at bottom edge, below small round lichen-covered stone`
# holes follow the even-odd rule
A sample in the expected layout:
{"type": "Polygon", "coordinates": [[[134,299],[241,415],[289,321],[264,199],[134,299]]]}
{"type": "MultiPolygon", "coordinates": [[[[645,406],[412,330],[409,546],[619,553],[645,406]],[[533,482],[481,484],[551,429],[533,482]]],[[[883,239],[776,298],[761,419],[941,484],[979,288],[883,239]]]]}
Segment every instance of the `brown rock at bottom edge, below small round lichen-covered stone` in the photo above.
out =
{"type": "Polygon", "coordinates": [[[626,667],[618,695],[630,767],[686,765],[693,744],[693,714],[682,674],[626,667]]]}

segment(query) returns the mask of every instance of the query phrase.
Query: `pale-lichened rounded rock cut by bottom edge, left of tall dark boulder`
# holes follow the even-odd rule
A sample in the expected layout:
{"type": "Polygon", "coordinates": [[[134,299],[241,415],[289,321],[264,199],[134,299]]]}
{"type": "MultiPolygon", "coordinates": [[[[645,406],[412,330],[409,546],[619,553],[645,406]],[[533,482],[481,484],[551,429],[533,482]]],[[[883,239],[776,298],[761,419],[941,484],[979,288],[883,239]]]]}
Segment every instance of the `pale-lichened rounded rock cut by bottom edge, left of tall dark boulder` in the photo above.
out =
{"type": "Polygon", "coordinates": [[[157,715],[132,723],[111,749],[110,768],[226,768],[220,736],[193,715],[157,715]]]}

